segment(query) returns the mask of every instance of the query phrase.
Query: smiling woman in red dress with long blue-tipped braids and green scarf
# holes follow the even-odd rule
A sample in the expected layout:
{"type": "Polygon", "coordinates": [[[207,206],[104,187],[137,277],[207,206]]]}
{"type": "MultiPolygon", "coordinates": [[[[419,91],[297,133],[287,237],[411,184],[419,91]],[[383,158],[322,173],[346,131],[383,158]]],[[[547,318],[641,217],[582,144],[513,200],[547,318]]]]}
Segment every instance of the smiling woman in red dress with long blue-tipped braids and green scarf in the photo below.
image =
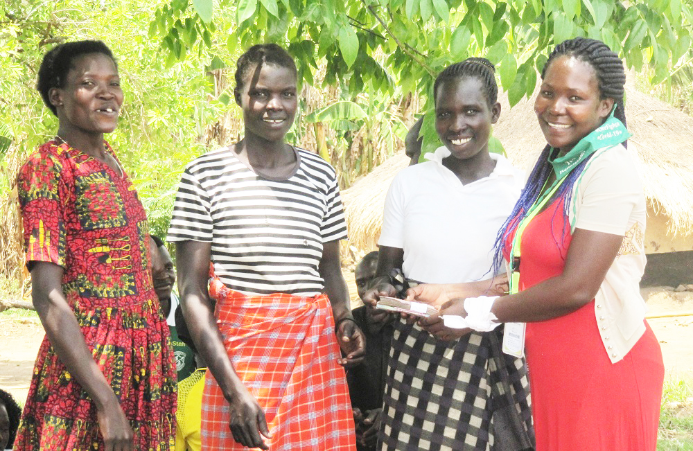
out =
{"type": "MultiPolygon", "coordinates": [[[[527,322],[538,451],[655,450],[664,366],[638,289],[645,200],[626,149],[623,64],[578,37],[556,46],[542,79],[534,111],[548,144],[498,239],[512,294],[440,314],[527,322]]],[[[411,294],[446,301],[459,287],[411,294]]]]}

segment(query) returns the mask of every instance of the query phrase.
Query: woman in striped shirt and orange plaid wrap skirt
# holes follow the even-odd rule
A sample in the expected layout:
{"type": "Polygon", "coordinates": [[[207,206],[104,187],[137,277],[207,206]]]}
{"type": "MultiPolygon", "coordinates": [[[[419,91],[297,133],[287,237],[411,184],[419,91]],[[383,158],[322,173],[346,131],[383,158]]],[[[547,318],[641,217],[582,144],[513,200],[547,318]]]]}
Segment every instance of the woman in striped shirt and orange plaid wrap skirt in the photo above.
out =
{"type": "Polygon", "coordinates": [[[241,55],[234,95],[245,136],[186,167],[168,231],[186,322],[212,376],[202,449],[351,450],[340,364],[358,363],[365,341],[340,270],[335,171],[284,142],[297,71],[283,48],[241,55]]]}

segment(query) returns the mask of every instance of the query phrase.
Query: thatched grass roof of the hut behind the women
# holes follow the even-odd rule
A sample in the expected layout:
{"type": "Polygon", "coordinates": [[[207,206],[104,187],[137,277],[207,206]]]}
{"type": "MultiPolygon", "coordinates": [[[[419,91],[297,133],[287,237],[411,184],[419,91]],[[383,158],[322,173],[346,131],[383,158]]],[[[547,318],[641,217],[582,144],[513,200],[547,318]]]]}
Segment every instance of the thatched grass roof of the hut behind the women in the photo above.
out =
{"type": "MultiPolygon", "coordinates": [[[[534,97],[512,108],[507,96],[499,97],[502,114],[493,134],[514,165],[528,170],[545,145],[534,97]]],[[[626,118],[650,206],[667,216],[669,233],[693,234],[693,118],[628,86],[626,118]]],[[[352,247],[376,248],[387,188],[408,161],[401,152],[342,193],[352,247]]]]}

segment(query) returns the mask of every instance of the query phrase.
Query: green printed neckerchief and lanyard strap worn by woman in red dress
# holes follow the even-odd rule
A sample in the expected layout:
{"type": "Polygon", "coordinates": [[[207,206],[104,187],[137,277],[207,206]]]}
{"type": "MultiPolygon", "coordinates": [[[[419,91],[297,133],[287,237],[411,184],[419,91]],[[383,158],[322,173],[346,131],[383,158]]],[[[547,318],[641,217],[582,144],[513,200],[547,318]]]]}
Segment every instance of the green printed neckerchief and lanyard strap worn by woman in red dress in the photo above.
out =
{"type": "MultiPolygon", "coordinates": [[[[581,139],[568,153],[563,155],[563,157],[549,159],[549,162],[554,167],[556,182],[532,204],[515,231],[513,245],[510,251],[510,294],[515,294],[520,290],[520,243],[522,242],[522,235],[527,224],[534,219],[541,209],[543,209],[546,202],[556,193],[563,179],[565,179],[565,177],[567,177],[582,161],[588,159],[598,149],[613,147],[631,136],[623,123],[613,116],[615,109],[614,107],[611,110],[611,115],[601,126],[581,139]]],[[[554,150],[552,148],[549,153],[552,154],[553,152],[554,150]]],[[[546,184],[544,184],[544,186],[546,186],[546,184]]]]}

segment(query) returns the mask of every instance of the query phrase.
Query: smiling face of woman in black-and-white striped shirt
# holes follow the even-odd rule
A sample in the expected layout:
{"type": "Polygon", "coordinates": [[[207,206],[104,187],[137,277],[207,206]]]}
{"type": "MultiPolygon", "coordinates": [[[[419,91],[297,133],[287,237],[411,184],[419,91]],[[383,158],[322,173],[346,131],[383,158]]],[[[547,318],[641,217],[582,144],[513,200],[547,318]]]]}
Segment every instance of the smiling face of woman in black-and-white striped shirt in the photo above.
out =
{"type": "Polygon", "coordinates": [[[296,116],[296,89],[296,74],[287,67],[262,64],[248,70],[234,92],[243,109],[245,136],[282,141],[296,116]]]}

